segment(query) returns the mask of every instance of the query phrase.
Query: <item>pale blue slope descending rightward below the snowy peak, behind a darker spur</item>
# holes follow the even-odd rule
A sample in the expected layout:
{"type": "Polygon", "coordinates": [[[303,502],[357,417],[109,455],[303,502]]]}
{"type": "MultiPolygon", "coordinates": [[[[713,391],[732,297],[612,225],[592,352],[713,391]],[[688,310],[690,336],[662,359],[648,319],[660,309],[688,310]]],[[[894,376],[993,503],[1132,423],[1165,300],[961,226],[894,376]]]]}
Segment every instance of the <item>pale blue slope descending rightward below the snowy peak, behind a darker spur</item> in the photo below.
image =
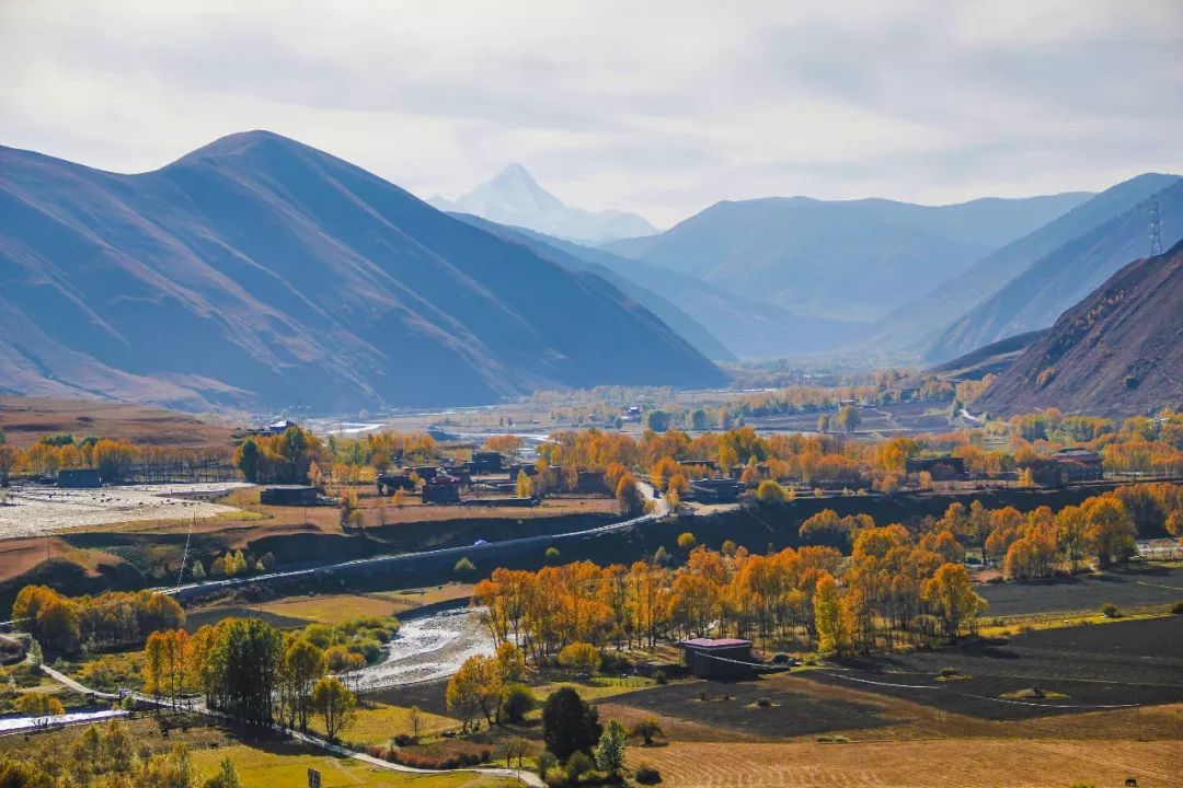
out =
{"type": "Polygon", "coordinates": [[[622,258],[606,249],[521,227],[493,224],[473,216],[457,216],[484,222],[478,226],[486,228],[499,227],[502,233],[526,243],[543,256],[606,276],[716,360],[820,352],[840,347],[865,331],[861,323],[802,318],[697,276],[622,258]]]}

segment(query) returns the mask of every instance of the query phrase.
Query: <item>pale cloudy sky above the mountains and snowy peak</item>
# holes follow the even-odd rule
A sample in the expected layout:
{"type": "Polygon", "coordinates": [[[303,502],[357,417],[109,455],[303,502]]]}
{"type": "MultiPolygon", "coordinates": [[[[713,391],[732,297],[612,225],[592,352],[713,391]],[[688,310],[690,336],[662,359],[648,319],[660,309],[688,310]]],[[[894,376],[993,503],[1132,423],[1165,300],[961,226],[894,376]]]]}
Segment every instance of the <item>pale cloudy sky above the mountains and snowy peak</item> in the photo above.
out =
{"type": "Polygon", "coordinates": [[[660,226],[1183,171],[1181,0],[0,0],[0,144],[93,167],[261,128],[421,196],[517,161],[660,226]]]}

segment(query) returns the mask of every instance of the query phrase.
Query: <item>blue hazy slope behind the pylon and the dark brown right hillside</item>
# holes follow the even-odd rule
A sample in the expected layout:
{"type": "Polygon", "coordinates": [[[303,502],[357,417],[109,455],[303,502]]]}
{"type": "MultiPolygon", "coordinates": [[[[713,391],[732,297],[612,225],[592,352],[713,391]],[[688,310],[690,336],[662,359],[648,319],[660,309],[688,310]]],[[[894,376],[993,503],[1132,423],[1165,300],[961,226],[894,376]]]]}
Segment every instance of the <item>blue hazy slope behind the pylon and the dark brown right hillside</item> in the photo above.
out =
{"type": "MultiPolygon", "coordinates": [[[[1152,182],[1163,177],[1171,180],[1153,176],[1152,182]]],[[[1174,184],[1153,194],[1153,198],[1162,214],[1163,245],[1170,247],[1183,239],[1183,180],[1174,178],[1174,184]]],[[[1040,258],[942,332],[926,358],[944,360],[1052,325],[1113,272],[1146,254],[1149,223],[1150,200],[1143,197],[1132,208],[1040,258]]],[[[1183,302],[1178,306],[1183,310],[1183,302]]]]}

